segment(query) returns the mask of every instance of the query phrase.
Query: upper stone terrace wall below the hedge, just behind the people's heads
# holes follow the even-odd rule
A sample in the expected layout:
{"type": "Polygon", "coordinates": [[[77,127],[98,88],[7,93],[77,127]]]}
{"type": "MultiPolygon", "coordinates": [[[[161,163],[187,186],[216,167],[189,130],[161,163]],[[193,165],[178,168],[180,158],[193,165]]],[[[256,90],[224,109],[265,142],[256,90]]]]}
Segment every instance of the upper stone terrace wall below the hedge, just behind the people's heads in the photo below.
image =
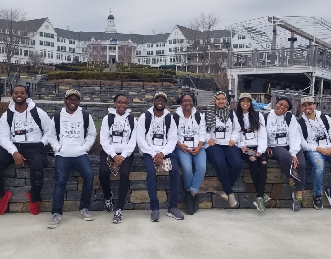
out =
{"type": "MultiPolygon", "coordinates": [[[[53,100],[64,101],[66,91],[68,89],[77,90],[77,86],[59,86],[41,85],[38,92],[30,93],[33,100],[53,100]]],[[[35,90],[33,87],[32,90],[35,90]]],[[[157,92],[165,92],[168,97],[168,104],[176,104],[176,100],[183,93],[192,93],[189,88],[181,88],[181,86],[173,87],[153,87],[153,88],[138,88],[132,86],[85,86],[79,87],[78,91],[82,95],[81,102],[95,103],[113,103],[115,95],[119,93],[126,94],[129,97],[129,103],[153,104],[153,97],[157,92]]]]}

